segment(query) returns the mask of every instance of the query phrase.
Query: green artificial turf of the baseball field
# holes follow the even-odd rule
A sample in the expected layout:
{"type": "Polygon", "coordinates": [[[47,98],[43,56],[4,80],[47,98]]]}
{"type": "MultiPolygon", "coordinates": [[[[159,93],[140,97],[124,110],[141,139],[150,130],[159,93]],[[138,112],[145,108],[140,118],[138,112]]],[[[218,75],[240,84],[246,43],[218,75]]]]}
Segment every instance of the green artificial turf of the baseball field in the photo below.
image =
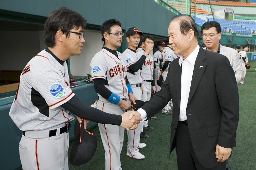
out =
{"type": "MultiPolygon", "coordinates": [[[[233,148],[229,165],[232,170],[254,170],[256,169],[256,63],[250,61],[251,68],[247,70],[244,79],[245,84],[238,84],[239,90],[239,124],[236,134],[236,147],[233,148]]],[[[148,125],[154,130],[145,131],[149,138],[140,139],[141,143],[146,143],[145,148],[140,149],[140,153],[145,156],[143,160],[136,160],[126,156],[127,133],[124,133],[124,145],[121,153],[121,167],[123,170],[176,170],[177,160],[174,150],[169,156],[170,148],[170,125],[172,115],[162,113],[156,114],[157,120],[149,120],[148,125]]],[[[103,170],[104,169],[104,149],[100,139],[98,127],[90,130],[97,137],[97,149],[93,158],[84,165],[72,166],[70,170],[103,170]]],[[[69,151],[74,141],[70,142],[69,151]]],[[[68,154],[69,155],[69,154],[68,154]]]]}

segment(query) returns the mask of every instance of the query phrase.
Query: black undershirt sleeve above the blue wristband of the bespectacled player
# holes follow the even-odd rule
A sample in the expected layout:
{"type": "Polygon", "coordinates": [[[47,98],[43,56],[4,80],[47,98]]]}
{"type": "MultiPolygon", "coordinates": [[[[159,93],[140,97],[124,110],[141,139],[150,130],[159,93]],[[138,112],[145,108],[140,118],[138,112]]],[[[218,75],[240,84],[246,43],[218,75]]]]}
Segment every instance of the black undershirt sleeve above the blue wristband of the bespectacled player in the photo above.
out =
{"type": "Polygon", "coordinates": [[[99,93],[105,99],[108,99],[111,96],[111,91],[105,87],[105,80],[103,78],[94,78],[93,79],[95,92],[99,93]]]}

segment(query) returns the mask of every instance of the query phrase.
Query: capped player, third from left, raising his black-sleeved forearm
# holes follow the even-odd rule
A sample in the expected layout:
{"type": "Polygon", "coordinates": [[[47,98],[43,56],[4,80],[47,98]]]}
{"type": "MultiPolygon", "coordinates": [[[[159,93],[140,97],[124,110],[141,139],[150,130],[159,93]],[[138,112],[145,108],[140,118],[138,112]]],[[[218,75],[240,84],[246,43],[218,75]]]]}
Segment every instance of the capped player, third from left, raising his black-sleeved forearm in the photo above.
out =
{"type": "MultiPolygon", "coordinates": [[[[126,68],[127,68],[126,76],[132,87],[133,95],[138,100],[141,100],[141,97],[142,97],[142,92],[140,87],[143,79],[141,77],[140,69],[147,58],[146,56],[152,50],[148,46],[148,48],[144,52],[144,55],[142,55],[140,59],[138,59],[136,55],[136,48],[139,45],[140,35],[142,34],[143,32],[138,31],[136,27],[132,27],[127,30],[126,41],[128,42],[128,48],[124,50],[123,52],[124,58],[122,58],[124,63],[126,63],[126,68]]],[[[127,143],[126,155],[134,159],[145,158],[145,156],[142,155],[138,149],[146,146],[146,144],[144,143],[140,144],[140,129],[142,129],[142,126],[143,126],[143,123],[139,123],[137,129],[127,131],[128,143],[127,143]]]]}

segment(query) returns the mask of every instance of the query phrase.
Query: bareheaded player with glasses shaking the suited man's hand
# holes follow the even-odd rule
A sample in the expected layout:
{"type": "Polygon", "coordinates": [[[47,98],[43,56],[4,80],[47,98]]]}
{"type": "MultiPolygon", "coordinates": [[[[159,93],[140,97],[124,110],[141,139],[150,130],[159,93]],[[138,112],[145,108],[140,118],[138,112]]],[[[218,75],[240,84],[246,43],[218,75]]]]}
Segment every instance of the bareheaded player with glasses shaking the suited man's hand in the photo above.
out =
{"type": "MultiPolygon", "coordinates": [[[[84,118],[124,128],[139,122],[86,106],[71,91],[66,60],[81,54],[85,26],[85,18],[76,11],[60,8],[50,13],[44,24],[48,48],[33,57],[20,75],[9,115],[23,131],[19,150],[24,170],[68,169],[69,121],[74,120],[69,112],[79,122],[84,118]]],[[[86,125],[84,120],[84,129],[86,125]]]]}

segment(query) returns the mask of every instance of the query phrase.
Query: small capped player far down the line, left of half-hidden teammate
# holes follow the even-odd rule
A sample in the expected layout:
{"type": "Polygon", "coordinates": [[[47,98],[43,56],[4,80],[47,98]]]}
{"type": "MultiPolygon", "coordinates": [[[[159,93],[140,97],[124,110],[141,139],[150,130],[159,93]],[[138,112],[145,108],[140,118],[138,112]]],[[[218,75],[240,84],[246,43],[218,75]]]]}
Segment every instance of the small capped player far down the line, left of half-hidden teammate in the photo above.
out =
{"type": "Polygon", "coordinates": [[[154,65],[155,65],[155,85],[156,85],[156,92],[158,92],[160,90],[160,86],[157,85],[156,80],[159,78],[160,76],[160,61],[162,58],[162,51],[165,47],[165,42],[164,41],[160,41],[158,44],[158,50],[154,53],[154,65]]]}

